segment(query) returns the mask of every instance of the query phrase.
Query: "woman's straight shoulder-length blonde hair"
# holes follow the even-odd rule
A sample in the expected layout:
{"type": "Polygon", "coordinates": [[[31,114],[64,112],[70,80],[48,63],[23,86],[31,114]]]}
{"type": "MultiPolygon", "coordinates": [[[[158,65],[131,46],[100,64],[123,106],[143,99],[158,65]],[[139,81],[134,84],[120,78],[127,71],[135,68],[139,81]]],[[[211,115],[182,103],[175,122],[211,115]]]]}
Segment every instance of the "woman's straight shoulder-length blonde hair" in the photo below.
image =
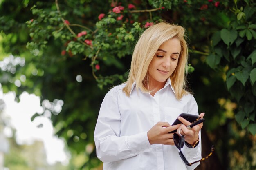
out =
{"type": "Polygon", "coordinates": [[[180,40],[181,45],[177,67],[170,76],[171,84],[177,99],[181,99],[183,95],[188,93],[185,90],[188,59],[188,46],[185,40],[185,33],[186,30],[182,26],[168,24],[166,22],[160,22],[150,26],[142,33],[133,51],[130,73],[126,81],[126,86],[123,89],[126,96],[130,96],[134,82],[136,82],[137,91],[140,88],[142,92],[149,92],[145,86],[145,81],[148,78],[149,64],[159,49],[159,46],[171,38],[180,40]]]}

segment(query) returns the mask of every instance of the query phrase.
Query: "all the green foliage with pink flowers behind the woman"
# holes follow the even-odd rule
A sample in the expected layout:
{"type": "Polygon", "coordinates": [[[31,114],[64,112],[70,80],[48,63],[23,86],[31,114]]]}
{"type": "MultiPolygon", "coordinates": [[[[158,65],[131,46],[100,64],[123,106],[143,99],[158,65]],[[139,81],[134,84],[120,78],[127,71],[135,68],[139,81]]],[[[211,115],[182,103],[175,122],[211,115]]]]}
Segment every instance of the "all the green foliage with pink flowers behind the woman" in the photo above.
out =
{"type": "MultiPolygon", "coordinates": [[[[85,148],[93,146],[102,99],[111,86],[126,80],[132,51],[146,29],[144,25],[158,19],[187,29],[189,82],[199,110],[207,113],[204,127],[212,139],[217,136],[218,156],[225,158],[230,143],[229,139],[219,139],[218,132],[236,138],[229,154],[243,143],[237,135],[241,128],[255,134],[256,7],[252,0],[225,0],[218,5],[207,0],[55,2],[2,0],[0,46],[4,48],[0,48],[0,56],[12,53],[25,59],[26,64],[11,65],[16,69],[12,72],[0,70],[0,82],[4,92],[16,91],[19,95],[28,91],[40,95],[42,101],[64,101],[61,113],[53,112],[51,119],[56,135],[67,141],[72,161],[78,162],[73,169],[99,166],[95,148],[85,148]],[[135,8],[128,9],[130,3],[135,8]],[[112,9],[116,6],[124,9],[115,13],[112,9]],[[82,79],[78,81],[77,76],[82,79]],[[15,85],[17,80],[20,86],[15,85]],[[227,113],[218,102],[222,98],[236,107],[227,113]],[[227,129],[233,119],[240,124],[237,127],[232,122],[236,131],[227,129]]],[[[249,139],[243,146],[248,143],[249,139]]],[[[221,160],[223,165],[229,164],[229,160],[221,160]]],[[[252,163],[248,167],[255,168],[252,163]]]]}

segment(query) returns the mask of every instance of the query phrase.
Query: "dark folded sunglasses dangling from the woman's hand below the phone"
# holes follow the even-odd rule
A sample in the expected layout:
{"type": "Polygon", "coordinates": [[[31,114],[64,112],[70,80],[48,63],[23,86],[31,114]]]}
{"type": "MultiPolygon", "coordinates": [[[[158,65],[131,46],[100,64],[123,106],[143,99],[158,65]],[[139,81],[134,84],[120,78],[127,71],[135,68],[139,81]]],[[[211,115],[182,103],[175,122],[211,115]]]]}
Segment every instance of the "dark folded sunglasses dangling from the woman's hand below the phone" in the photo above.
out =
{"type": "Polygon", "coordinates": [[[200,162],[200,161],[204,161],[205,159],[207,159],[208,157],[210,157],[214,151],[214,146],[211,146],[211,152],[209,153],[209,155],[207,155],[206,157],[198,160],[198,161],[195,161],[193,163],[189,163],[187,160],[186,160],[186,157],[183,155],[182,151],[181,151],[181,148],[184,146],[184,136],[182,135],[181,137],[177,134],[177,133],[174,133],[173,134],[173,140],[174,140],[174,144],[175,146],[179,149],[179,155],[181,157],[181,159],[184,161],[184,163],[186,163],[187,166],[191,166],[193,165],[194,163],[197,163],[197,162],[200,162]]]}

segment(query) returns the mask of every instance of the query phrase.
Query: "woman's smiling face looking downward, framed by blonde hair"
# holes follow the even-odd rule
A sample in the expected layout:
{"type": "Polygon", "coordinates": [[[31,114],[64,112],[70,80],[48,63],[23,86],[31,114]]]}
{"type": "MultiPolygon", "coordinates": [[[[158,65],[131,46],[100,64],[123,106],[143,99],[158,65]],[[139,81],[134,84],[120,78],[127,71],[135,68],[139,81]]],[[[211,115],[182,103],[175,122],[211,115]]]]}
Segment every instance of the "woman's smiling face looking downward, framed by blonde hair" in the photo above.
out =
{"type": "Polygon", "coordinates": [[[177,67],[180,50],[180,40],[177,38],[167,40],[159,47],[148,68],[150,84],[166,82],[177,67]]]}

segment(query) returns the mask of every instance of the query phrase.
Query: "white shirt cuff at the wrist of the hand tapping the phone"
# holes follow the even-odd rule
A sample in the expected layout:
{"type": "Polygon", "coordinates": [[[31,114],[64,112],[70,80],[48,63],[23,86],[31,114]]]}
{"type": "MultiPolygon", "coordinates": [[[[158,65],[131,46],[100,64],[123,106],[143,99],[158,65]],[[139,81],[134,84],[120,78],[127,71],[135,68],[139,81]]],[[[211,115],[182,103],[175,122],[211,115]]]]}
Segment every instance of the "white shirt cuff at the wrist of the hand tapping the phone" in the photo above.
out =
{"type": "Polygon", "coordinates": [[[148,141],[148,132],[138,133],[127,137],[127,146],[132,152],[142,153],[152,150],[148,141]]]}

